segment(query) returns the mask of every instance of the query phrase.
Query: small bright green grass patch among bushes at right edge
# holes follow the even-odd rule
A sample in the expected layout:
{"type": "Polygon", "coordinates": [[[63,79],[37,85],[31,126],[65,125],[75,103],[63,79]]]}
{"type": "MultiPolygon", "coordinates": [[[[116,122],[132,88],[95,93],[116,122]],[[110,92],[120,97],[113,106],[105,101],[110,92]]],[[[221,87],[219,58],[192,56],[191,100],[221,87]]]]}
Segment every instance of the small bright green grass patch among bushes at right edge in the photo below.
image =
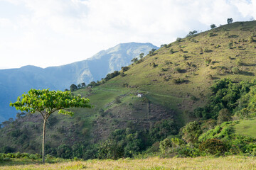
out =
{"type": "Polygon", "coordinates": [[[234,129],[236,134],[256,137],[256,119],[240,120],[234,129]]]}

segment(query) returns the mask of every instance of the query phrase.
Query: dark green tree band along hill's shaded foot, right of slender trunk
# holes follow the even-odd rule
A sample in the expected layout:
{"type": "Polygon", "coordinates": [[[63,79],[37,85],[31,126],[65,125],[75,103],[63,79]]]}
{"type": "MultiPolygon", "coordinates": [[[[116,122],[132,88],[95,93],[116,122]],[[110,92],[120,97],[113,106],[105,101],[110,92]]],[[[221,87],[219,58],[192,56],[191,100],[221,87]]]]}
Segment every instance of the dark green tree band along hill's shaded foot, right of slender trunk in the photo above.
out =
{"type": "Polygon", "coordinates": [[[149,130],[138,130],[137,125],[129,121],[127,128],[114,130],[107,140],[97,144],[75,143],[73,146],[60,145],[57,148],[46,146],[46,153],[54,157],[70,159],[119,159],[134,157],[151,147],[155,142],[170,135],[178,135],[178,126],[173,119],[156,122],[149,130]]]}

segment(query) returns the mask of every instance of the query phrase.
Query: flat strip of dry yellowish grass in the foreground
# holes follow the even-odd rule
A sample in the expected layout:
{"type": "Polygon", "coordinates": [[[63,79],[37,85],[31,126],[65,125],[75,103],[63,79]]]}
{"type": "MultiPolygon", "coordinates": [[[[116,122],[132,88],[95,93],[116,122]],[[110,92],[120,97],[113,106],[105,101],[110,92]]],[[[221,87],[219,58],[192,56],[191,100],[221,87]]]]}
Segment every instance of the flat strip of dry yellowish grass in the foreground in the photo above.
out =
{"type": "Polygon", "coordinates": [[[197,157],[88,160],[55,164],[0,166],[0,169],[256,169],[255,157],[197,157]]]}

